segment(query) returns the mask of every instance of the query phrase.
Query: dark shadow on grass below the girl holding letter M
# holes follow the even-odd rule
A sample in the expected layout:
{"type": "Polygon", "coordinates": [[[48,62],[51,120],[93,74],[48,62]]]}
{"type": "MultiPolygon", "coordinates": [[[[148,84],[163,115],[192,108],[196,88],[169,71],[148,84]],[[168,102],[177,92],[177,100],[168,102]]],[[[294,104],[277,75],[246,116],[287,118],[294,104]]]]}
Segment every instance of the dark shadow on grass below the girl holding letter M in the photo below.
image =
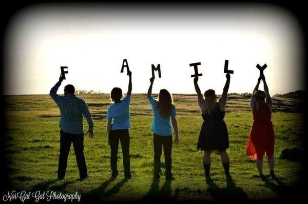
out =
{"type": "Polygon", "coordinates": [[[171,197],[171,180],[165,180],[165,183],[161,189],[159,189],[159,183],[160,180],[153,180],[149,192],[143,197],[143,199],[168,201],[175,200],[175,197],[171,197]]]}

